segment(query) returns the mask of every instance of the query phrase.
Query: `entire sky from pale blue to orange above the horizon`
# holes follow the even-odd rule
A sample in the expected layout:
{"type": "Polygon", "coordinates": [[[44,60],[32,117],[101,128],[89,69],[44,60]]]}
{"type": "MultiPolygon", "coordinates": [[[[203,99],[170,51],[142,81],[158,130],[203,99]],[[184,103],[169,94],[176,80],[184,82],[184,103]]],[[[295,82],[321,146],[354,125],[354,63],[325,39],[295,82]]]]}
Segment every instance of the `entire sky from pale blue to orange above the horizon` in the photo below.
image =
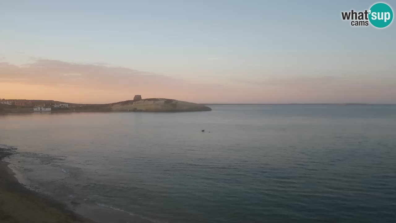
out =
{"type": "Polygon", "coordinates": [[[341,19],[375,3],[0,0],[0,98],[396,104],[396,24],[341,19]]]}

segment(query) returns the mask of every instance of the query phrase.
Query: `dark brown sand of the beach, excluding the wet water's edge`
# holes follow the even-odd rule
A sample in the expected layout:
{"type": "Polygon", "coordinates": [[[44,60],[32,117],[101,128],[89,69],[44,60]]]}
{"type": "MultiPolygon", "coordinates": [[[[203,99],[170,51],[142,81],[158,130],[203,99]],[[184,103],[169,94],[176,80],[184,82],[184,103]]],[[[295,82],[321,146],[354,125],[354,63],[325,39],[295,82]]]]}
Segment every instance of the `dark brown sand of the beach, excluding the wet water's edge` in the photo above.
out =
{"type": "Polygon", "coordinates": [[[0,223],[93,223],[65,204],[22,186],[9,163],[1,161],[4,153],[0,151],[0,223]]]}

